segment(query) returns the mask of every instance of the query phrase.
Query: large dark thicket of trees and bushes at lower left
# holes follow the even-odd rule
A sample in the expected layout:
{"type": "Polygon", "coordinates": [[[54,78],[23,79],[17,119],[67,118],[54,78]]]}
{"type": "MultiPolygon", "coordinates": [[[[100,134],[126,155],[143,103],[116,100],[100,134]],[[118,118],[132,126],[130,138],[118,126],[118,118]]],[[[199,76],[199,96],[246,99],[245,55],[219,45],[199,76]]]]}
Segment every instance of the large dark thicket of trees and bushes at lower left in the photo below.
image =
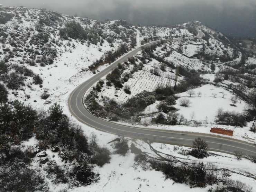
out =
{"type": "MultiPolygon", "coordinates": [[[[92,171],[90,162],[100,166],[109,162],[109,150],[96,143],[97,150],[91,152],[83,131],[63,114],[59,104],[54,103],[47,112],[39,113],[18,101],[0,104],[0,121],[0,191],[47,191],[44,180],[29,168],[30,158],[37,152],[30,149],[24,152],[20,148],[20,141],[28,139],[33,132],[40,150],[57,149],[63,161],[76,162],[71,175],[83,185],[97,181],[99,176],[92,171]]],[[[46,171],[54,174],[57,183],[68,182],[71,176],[53,162],[48,162],[46,171]]]]}

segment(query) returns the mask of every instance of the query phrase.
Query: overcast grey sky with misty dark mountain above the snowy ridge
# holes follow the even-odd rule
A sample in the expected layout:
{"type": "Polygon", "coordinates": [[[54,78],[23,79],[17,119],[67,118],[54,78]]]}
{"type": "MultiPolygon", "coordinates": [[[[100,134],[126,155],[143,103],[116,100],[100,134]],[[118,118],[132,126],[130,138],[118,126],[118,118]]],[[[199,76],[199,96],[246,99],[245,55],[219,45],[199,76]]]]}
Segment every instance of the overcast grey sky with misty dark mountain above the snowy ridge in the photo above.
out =
{"type": "Polygon", "coordinates": [[[0,0],[0,4],[146,25],[199,20],[225,34],[256,35],[256,0],[0,0]]]}

